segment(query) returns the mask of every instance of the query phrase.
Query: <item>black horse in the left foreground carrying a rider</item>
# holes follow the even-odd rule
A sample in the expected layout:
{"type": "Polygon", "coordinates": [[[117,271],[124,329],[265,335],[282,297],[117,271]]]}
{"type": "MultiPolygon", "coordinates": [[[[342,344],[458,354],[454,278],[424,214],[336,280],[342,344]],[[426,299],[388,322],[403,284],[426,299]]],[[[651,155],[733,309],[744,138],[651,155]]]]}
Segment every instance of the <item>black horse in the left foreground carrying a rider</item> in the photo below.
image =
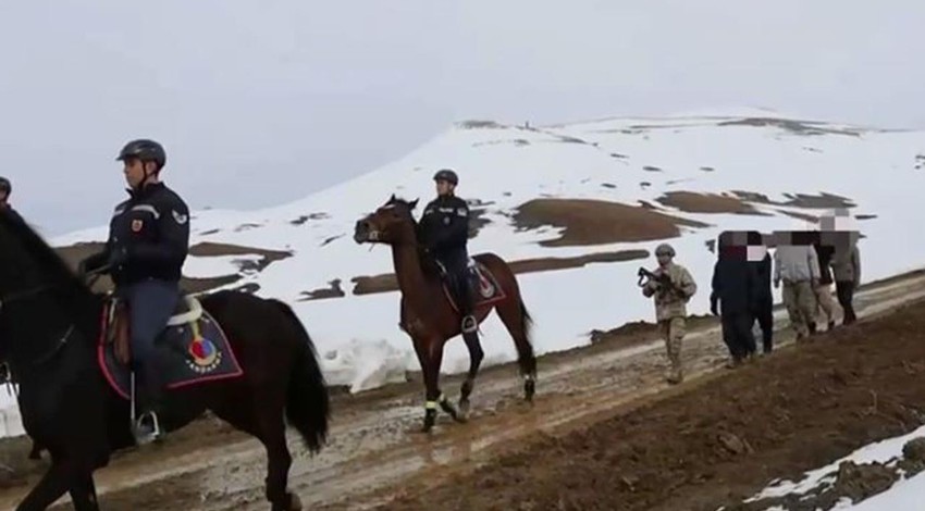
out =
{"type": "MultiPolygon", "coordinates": [[[[166,392],[161,426],[173,431],[206,410],[267,448],[267,499],[300,509],[287,489],[286,419],[311,452],[328,436],[329,395],[314,346],[285,303],[239,291],[199,297],[244,371],[239,377],[166,392]]],[[[45,510],[70,493],[77,511],[98,510],[92,474],[135,445],[130,401],[98,360],[107,297],[94,294],[28,226],[0,211],[0,356],[20,383],[23,426],[51,466],[16,508],[45,510]]]]}

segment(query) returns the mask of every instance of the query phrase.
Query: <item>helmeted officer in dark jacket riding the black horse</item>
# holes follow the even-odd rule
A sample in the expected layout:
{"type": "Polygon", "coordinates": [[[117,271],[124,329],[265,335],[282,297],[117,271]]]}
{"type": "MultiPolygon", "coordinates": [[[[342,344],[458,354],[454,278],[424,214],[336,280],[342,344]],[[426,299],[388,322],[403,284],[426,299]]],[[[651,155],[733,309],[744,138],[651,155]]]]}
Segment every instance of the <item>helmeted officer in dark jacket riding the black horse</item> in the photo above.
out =
{"type": "Polygon", "coordinates": [[[147,406],[134,433],[138,444],[146,444],[161,436],[157,416],[163,384],[155,339],[180,300],[181,269],[189,251],[189,210],[160,180],[166,163],[160,144],[133,140],[116,160],[123,162],[130,198],[115,207],[104,250],[84,260],[79,272],[110,274],[115,296],[128,304],[133,371],[140,370],[147,390],[147,406]]]}

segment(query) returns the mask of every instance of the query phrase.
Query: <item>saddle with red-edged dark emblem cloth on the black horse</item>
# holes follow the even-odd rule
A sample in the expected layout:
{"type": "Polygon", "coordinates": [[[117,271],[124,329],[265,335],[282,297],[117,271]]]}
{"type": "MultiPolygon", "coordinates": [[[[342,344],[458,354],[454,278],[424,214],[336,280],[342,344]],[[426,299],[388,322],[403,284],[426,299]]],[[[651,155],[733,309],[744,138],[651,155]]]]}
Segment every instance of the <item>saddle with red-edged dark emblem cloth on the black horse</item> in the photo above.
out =
{"type": "MultiPolygon", "coordinates": [[[[98,358],[110,385],[131,395],[131,306],[110,298],[103,307],[98,358]]],[[[221,325],[195,297],[184,296],[155,340],[162,379],[169,389],[244,374],[221,325]]]]}

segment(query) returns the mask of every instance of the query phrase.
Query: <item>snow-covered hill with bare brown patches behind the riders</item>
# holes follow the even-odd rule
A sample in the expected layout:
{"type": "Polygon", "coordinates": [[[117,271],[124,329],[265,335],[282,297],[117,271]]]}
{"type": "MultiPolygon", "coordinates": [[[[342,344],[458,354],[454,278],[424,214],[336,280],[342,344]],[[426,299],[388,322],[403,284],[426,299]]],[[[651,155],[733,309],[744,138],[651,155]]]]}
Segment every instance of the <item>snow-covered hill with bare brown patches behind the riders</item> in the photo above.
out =
{"type": "MultiPolygon", "coordinates": [[[[472,253],[530,260],[519,264],[519,279],[543,353],[588,344],[593,329],[651,321],[636,272],[655,265],[651,252],[662,240],[700,285],[691,313],[707,312],[714,254],[706,242],[725,228],[802,228],[846,207],[865,236],[864,281],[920,266],[923,165],[925,133],[764,111],[554,126],[467,122],[303,200],[196,212],[185,273],[196,289],[243,287],[292,303],[330,382],[359,390],[404,379],[417,360],[397,326],[390,251],[356,245],[354,225],[393,192],[432,198],[437,169],[457,170],[458,192],[478,212],[472,253]]],[[[100,209],[101,224],[108,213],[100,209]]],[[[74,257],[104,236],[100,226],[52,242],[74,257]]],[[[494,315],[483,331],[486,363],[514,360],[494,315]]],[[[444,371],[467,364],[462,342],[451,342],[444,371]]]]}

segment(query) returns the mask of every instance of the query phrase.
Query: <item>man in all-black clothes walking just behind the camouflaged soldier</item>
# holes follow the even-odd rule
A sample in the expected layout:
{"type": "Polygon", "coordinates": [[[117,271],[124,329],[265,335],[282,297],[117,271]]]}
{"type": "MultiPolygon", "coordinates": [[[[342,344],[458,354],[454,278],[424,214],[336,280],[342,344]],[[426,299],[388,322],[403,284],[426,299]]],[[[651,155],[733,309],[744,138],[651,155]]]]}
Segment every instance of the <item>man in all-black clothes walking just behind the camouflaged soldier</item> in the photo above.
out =
{"type": "Polygon", "coordinates": [[[755,353],[752,304],[757,278],[748,262],[745,238],[744,233],[724,232],[719,235],[718,260],[714,266],[713,292],[710,295],[710,310],[714,315],[720,315],[723,322],[723,340],[731,356],[729,367],[739,365],[755,353]],[[717,301],[721,314],[716,310],[717,301]]]}

